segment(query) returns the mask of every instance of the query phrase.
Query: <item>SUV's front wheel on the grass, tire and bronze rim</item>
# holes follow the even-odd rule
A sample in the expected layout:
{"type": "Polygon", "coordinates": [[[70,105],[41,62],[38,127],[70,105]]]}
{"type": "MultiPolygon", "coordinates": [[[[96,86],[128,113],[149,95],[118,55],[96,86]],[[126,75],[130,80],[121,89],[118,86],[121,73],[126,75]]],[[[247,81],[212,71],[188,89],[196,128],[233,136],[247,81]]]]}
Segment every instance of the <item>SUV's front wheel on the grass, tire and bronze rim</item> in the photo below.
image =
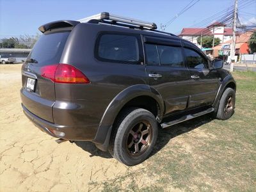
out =
{"type": "Polygon", "coordinates": [[[220,120],[227,120],[234,114],[236,104],[236,93],[232,88],[227,88],[220,99],[216,118],[220,120]]]}

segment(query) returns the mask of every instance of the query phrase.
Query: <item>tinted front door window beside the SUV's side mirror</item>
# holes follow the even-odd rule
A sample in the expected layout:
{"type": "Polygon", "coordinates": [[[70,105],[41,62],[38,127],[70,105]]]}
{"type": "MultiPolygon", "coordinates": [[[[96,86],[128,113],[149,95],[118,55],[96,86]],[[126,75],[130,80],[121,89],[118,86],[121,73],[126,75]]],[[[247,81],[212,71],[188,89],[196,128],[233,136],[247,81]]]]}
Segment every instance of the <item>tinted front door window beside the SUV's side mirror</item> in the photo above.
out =
{"type": "Polygon", "coordinates": [[[184,49],[189,68],[208,68],[208,61],[191,49],[184,49]]]}

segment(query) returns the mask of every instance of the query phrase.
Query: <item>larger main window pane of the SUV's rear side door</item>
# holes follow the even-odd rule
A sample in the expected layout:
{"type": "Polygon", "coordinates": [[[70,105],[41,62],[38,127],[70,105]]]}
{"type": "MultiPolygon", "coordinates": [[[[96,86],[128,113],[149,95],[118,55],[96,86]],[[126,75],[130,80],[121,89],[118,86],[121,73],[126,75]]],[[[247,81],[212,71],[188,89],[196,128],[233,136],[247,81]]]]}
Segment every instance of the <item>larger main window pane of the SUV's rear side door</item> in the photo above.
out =
{"type": "Polygon", "coordinates": [[[161,65],[183,67],[181,47],[157,45],[161,65]]]}

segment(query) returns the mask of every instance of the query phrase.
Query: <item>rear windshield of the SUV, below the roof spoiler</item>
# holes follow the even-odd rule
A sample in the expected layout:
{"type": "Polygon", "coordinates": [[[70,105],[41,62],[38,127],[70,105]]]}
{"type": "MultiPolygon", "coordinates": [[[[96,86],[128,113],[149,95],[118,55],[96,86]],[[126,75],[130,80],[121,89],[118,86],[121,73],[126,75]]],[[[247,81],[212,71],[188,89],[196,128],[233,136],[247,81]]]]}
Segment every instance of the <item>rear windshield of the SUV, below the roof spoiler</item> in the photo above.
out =
{"type": "Polygon", "coordinates": [[[54,64],[60,57],[70,32],[42,35],[28,56],[28,62],[54,64]]]}

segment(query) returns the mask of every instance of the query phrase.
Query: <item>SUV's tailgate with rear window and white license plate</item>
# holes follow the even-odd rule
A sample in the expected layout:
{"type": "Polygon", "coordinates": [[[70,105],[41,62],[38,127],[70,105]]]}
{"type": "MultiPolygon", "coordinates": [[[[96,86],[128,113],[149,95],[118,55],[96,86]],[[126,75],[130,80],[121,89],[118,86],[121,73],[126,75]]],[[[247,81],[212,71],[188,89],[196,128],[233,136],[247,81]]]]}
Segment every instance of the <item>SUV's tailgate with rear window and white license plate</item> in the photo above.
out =
{"type": "Polygon", "coordinates": [[[55,102],[54,82],[41,76],[41,68],[60,62],[70,32],[43,34],[22,65],[22,104],[34,115],[54,122],[52,106],[55,102]]]}

